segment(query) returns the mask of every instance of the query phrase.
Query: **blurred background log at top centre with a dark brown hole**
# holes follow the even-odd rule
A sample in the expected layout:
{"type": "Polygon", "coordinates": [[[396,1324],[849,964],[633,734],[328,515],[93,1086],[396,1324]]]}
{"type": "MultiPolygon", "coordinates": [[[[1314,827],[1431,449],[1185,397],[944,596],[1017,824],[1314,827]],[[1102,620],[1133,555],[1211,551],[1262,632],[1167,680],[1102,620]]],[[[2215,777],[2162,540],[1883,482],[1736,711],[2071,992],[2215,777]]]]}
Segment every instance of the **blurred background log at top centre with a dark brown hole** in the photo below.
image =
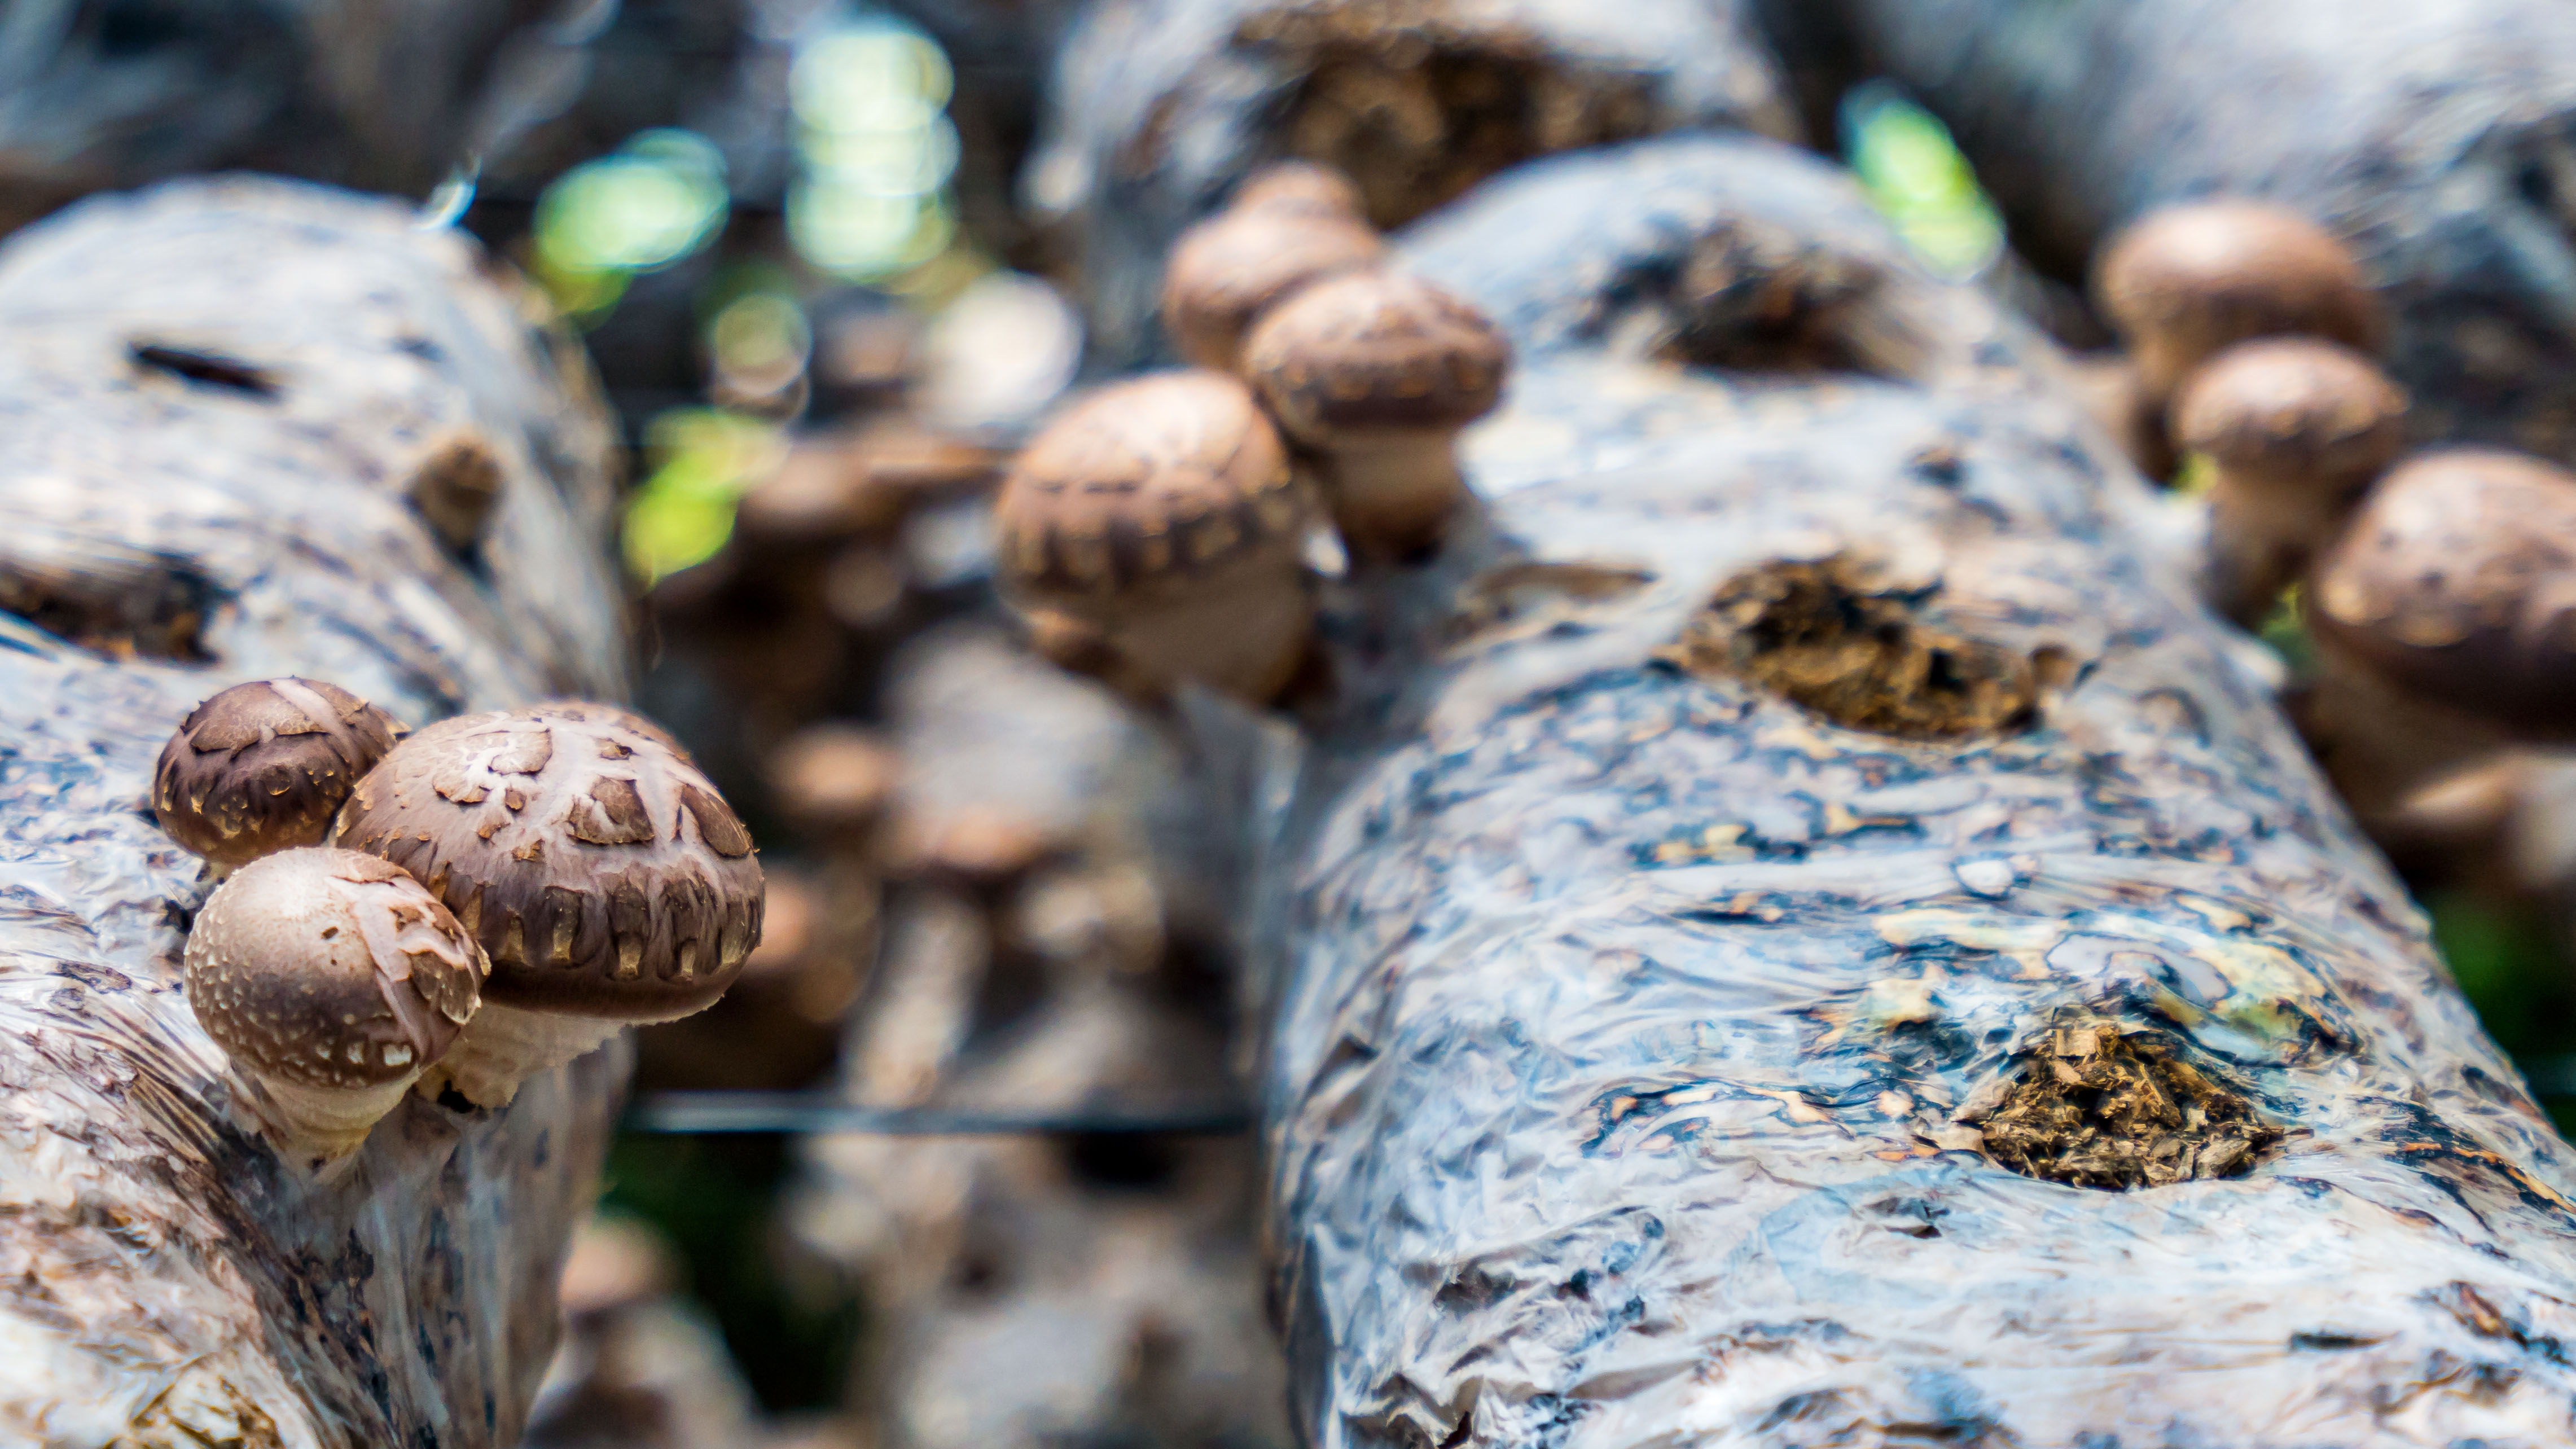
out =
{"type": "Polygon", "coordinates": [[[1530,157],[1795,136],[1749,0],[1103,0],[1056,51],[1023,196],[1072,234],[1095,360],[1151,355],[1162,252],[1255,165],[1340,167],[1396,226],[1530,157]]]}

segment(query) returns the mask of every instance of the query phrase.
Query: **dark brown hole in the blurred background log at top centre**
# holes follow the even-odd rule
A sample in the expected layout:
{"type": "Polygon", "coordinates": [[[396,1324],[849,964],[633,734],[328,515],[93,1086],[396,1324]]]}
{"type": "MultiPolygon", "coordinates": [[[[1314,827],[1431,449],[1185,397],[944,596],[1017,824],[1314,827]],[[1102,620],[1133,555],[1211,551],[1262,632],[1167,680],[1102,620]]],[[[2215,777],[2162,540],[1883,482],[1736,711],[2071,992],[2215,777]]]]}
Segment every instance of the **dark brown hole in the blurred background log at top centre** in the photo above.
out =
{"type": "Polygon", "coordinates": [[[1401,226],[1530,157],[1654,129],[1641,75],[1582,72],[1546,36],[1476,26],[1448,5],[1347,0],[1252,15],[1234,44],[1301,75],[1278,134],[1340,167],[1368,221],[1401,226]]]}

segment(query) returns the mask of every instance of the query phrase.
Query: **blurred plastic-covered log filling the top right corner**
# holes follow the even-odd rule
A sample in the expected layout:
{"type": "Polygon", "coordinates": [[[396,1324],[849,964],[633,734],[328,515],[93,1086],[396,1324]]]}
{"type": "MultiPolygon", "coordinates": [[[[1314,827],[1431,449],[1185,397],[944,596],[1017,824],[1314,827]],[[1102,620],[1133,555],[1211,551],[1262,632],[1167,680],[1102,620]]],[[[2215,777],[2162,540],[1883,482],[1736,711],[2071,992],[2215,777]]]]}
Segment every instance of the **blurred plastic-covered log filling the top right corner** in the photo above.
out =
{"type": "Polygon", "coordinates": [[[1937,111],[2045,268],[2202,193],[2352,239],[2421,438],[2576,458],[2576,10],[2553,0],[1765,0],[1937,111]]]}

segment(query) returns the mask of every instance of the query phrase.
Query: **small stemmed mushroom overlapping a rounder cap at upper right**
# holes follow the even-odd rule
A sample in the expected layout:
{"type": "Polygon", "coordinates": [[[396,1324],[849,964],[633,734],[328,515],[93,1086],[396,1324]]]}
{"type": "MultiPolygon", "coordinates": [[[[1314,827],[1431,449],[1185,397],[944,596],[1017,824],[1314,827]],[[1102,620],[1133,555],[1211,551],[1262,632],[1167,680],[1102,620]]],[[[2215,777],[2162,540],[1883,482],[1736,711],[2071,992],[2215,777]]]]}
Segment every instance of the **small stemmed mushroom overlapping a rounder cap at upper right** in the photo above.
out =
{"type": "Polygon", "coordinates": [[[2182,386],[2174,443],[2213,471],[2210,607],[2257,623],[2406,445],[2406,394],[2334,342],[2239,342],[2182,386]]]}

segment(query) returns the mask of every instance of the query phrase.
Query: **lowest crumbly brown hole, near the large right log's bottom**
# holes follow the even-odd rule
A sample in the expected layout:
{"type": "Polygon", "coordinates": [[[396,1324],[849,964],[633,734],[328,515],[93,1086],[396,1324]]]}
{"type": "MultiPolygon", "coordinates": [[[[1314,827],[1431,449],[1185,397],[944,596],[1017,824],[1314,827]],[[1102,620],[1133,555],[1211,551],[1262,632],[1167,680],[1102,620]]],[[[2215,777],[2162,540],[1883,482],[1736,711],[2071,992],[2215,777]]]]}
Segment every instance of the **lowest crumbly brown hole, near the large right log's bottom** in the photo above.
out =
{"type": "Polygon", "coordinates": [[[2099,1189],[2239,1176],[2285,1135],[2159,1032],[2105,1017],[2050,1027],[2020,1060],[2022,1078],[1968,1125],[2022,1176],[2099,1189]]]}

